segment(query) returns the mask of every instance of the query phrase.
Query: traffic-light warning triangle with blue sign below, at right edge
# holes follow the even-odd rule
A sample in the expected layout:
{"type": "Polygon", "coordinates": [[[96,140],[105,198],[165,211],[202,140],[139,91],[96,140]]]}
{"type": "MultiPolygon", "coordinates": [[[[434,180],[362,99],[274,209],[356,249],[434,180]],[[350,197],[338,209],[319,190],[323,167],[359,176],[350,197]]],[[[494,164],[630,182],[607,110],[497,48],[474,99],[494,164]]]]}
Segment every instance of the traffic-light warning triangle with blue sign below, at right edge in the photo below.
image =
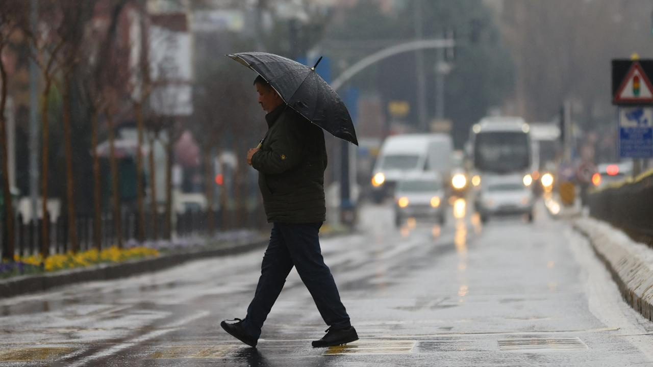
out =
{"type": "Polygon", "coordinates": [[[633,158],[633,176],[639,159],[653,157],[653,59],[613,59],[612,95],[618,106],[619,155],[633,158]]]}

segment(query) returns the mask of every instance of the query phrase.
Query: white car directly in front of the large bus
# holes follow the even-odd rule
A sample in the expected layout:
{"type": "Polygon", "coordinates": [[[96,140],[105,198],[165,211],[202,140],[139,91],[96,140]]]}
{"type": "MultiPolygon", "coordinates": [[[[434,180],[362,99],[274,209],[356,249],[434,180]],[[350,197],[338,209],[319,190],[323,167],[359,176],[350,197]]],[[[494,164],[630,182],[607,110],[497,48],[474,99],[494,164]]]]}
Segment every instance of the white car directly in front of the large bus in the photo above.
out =
{"type": "Polygon", "coordinates": [[[494,178],[485,181],[475,198],[476,211],[485,223],[494,215],[528,215],[533,221],[533,193],[522,182],[520,175],[494,178]]]}

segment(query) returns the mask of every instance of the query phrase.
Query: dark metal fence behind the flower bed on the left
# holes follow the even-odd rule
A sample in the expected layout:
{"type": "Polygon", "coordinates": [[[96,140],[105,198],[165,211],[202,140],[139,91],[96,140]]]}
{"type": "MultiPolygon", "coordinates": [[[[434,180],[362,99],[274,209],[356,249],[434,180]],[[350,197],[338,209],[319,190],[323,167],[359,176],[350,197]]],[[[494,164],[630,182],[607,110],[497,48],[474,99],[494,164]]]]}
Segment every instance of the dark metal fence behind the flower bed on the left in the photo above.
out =
{"type": "MultiPolygon", "coordinates": [[[[257,229],[266,225],[263,208],[257,207],[250,210],[214,210],[212,216],[208,211],[189,210],[184,213],[173,214],[171,219],[170,237],[184,238],[189,236],[209,236],[210,221],[213,218],[213,234],[229,229],[257,229]]],[[[69,236],[69,224],[66,215],[59,215],[55,221],[49,220],[50,215],[46,213],[48,223],[48,248],[50,255],[65,253],[71,249],[69,236]]],[[[42,246],[41,225],[44,219],[39,218],[33,221],[24,221],[22,215],[14,221],[14,253],[21,256],[29,256],[40,253],[42,246]]],[[[121,238],[123,243],[138,238],[137,214],[135,212],[123,212],[121,214],[121,238]]],[[[144,226],[144,240],[165,240],[168,236],[165,231],[165,214],[151,215],[146,212],[144,226]],[[156,228],[156,231],[155,231],[156,228]]],[[[7,247],[7,231],[4,230],[5,221],[0,223],[0,253],[4,254],[7,247]]],[[[76,234],[79,250],[85,251],[95,247],[93,241],[93,215],[77,215],[76,234]]],[[[118,234],[116,233],[116,222],[112,214],[103,213],[101,218],[101,248],[116,246],[118,234]]]]}

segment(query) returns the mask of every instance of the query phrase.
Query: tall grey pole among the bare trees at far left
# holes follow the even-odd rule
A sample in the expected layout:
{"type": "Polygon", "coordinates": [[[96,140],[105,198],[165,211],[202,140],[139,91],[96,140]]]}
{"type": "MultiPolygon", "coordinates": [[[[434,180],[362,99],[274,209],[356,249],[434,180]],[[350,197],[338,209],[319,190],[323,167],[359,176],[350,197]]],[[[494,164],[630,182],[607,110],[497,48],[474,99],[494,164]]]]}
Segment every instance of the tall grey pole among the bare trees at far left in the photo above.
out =
{"type": "MultiPolygon", "coordinates": [[[[37,29],[39,17],[38,1],[31,0],[29,22],[31,29],[37,29]]],[[[36,48],[32,45],[32,54],[36,57],[36,48]]],[[[39,67],[36,61],[29,60],[29,202],[31,219],[37,218],[39,197],[39,67]]]]}

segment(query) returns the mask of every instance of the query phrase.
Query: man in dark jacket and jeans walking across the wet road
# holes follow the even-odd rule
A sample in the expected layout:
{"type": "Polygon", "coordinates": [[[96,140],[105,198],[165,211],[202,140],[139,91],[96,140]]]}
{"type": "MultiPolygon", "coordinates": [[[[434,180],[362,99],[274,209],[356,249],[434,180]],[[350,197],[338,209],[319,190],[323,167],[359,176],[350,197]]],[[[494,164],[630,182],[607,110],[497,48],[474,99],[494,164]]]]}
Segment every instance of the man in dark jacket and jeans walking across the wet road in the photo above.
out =
{"type": "Polygon", "coordinates": [[[268,133],[260,148],[247,152],[247,163],[259,171],[263,205],[273,227],[247,316],[220,325],[241,342],[255,347],[261,327],[295,266],[328,325],[327,334],[313,341],[313,347],[353,342],[358,340],[357,332],[340,302],[319,244],[319,229],[326,219],[324,133],[288,108],[264,78],[258,76],[254,86],[259,104],[267,112],[268,133]]]}

